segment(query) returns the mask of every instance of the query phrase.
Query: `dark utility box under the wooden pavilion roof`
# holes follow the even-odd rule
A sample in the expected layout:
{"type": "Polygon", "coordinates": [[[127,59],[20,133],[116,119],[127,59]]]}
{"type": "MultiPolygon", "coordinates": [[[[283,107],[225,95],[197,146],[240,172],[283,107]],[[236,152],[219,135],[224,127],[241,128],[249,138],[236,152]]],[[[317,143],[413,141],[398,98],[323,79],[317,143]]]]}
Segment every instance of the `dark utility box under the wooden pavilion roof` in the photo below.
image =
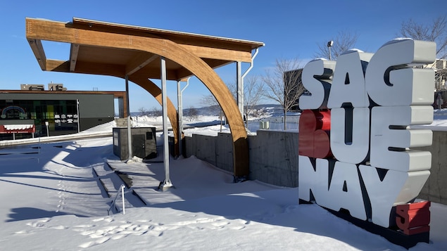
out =
{"type": "MultiPolygon", "coordinates": [[[[155,127],[134,127],[130,129],[132,136],[132,157],[151,159],[157,157],[157,142],[155,127]]],[[[113,128],[113,154],[120,160],[129,158],[129,143],[127,141],[127,128],[113,128]]]]}

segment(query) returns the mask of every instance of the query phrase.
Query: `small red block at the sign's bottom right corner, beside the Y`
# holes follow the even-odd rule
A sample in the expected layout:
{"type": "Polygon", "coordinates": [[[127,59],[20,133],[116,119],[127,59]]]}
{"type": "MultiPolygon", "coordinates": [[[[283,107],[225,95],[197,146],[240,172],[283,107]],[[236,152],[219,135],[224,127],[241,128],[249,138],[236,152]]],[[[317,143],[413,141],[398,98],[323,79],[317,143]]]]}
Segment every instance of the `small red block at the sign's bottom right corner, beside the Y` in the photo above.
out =
{"type": "Polygon", "coordinates": [[[430,231],[429,201],[396,206],[396,224],[406,235],[430,231]]]}

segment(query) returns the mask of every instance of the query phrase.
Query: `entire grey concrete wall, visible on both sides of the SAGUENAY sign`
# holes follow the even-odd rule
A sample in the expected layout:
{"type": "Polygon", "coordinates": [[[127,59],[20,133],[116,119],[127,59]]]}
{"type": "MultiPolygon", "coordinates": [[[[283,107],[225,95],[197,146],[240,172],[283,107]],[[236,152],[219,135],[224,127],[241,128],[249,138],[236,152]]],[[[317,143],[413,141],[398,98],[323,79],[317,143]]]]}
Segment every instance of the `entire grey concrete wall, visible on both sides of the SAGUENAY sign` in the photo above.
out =
{"type": "MultiPolygon", "coordinates": [[[[298,132],[260,130],[248,136],[250,179],[277,186],[298,186],[298,132]]],[[[216,167],[233,171],[230,134],[185,137],[187,157],[196,155],[216,167]]],[[[429,180],[418,198],[447,205],[447,131],[433,131],[432,146],[415,150],[432,153],[429,180]]]]}

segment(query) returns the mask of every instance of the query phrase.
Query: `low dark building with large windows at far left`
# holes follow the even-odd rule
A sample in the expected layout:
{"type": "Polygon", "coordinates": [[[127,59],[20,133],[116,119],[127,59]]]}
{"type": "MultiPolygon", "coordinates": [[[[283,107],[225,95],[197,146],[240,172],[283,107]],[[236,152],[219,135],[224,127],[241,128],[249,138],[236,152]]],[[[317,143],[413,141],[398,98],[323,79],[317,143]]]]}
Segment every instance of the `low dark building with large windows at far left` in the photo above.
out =
{"type": "Polygon", "coordinates": [[[22,84],[20,90],[1,90],[0,139],[84,131],[114,120],[115,98],[118,98],[118,117],[125,117],[125,97],[125,91],[66,91],[62,84],[53,83],[49,84],[48,91],[42,84],[22,84]],[[30,132],[31,125],[34,135],[30,132]]]}

